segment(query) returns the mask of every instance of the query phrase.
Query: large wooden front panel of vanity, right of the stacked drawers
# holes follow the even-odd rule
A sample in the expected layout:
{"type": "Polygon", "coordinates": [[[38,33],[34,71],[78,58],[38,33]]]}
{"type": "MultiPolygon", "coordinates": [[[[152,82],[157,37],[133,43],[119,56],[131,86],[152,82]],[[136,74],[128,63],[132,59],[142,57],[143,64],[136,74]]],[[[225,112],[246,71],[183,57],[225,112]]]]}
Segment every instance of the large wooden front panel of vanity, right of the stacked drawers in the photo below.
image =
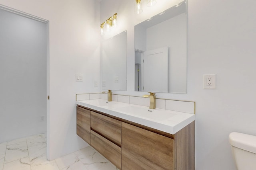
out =
{"type": "Polygon", "coordinates": [[[122,170],[174,170],[174,140],[122,122],[122,170]]]}

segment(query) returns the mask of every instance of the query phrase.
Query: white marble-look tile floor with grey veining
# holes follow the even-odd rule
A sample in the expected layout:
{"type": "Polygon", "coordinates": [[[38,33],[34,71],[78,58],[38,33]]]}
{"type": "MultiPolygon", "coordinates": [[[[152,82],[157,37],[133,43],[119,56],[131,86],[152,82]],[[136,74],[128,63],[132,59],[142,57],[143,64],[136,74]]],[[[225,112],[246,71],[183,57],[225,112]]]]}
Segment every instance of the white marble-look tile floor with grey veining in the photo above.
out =
{"type": "Polygon", "coordinates": [[[92,147],[46,160],[46,135],[0,143],[0,170],[118,170],[92,147]]]}

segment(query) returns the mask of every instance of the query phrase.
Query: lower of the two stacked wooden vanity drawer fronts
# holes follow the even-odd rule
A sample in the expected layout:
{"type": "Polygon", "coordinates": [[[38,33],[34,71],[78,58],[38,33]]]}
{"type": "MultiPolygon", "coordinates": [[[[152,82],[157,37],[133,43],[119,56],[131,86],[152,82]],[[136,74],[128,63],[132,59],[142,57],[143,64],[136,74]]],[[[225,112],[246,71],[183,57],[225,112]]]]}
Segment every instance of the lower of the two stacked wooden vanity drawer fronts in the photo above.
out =
{"type": "Polygon", "coordinates": [[[91,146],[121,169],[121,148],[91,130],[91,146]]]}

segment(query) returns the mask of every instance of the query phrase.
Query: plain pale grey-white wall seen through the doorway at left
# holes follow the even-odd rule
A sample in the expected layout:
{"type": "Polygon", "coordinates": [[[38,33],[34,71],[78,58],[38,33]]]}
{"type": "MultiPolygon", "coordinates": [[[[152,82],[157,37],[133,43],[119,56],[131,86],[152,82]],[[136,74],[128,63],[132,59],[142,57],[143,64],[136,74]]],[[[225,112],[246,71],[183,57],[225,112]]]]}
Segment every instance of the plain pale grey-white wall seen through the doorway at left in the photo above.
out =
{"type": "Polygon", "coordinates": [[[47,24],[3,9],[0,23],[1,143],[46,133],[47,24]]]}

